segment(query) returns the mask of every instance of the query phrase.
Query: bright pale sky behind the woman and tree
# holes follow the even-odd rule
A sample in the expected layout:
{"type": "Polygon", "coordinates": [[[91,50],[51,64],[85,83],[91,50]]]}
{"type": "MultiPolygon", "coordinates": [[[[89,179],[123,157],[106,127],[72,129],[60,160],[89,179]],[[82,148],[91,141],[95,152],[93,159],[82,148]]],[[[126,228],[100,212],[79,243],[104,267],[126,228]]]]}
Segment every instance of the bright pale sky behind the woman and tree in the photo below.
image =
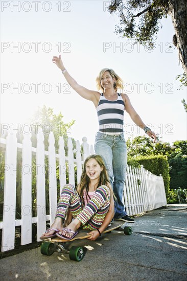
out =
{"type": "MultiPolygon", "coordinates": [[[[109,1],[1,1],[1,131],[25,126],[43,105],[76,120],[68,135],[94,144],[98,120],[92,102],[66,83],[52,57],[61,55],[69,74],[84,87],[96,88],[104,67],[124,81],[124,91],[144,123],[164,142],[186,139],[186,113],[181,103],[186,88],[172,44],[170,17],[162,19],[156,47],[150,51],[114,33],[119,23],[107,11],[109,1]]],[[[145,135],[128,113],[125,138],[145,135]]]]}

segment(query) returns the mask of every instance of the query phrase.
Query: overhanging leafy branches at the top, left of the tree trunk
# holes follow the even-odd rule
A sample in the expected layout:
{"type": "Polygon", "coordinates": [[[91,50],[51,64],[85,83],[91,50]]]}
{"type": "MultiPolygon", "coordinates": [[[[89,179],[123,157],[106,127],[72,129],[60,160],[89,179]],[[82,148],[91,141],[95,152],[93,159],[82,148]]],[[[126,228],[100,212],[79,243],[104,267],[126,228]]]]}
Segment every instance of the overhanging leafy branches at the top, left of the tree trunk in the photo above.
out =
{"type": "Polygon", "coordinates": [[[120,17],[120,24],[115,26],[116,34],[152,49],[161,27],[160,20],[167,17],[168,5],[167,0],[112,0],[108,11],[120,17]]]}

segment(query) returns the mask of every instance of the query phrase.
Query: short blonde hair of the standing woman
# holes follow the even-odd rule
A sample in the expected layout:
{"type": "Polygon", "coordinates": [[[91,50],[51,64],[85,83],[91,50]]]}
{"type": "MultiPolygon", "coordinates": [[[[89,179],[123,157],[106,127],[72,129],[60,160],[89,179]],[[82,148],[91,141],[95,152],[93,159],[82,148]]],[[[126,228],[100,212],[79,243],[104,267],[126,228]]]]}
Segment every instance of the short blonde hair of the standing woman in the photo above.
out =
{"type": "Polygon", "coordinates": [[[108,71],[111,75],[112,78],[115,78],[115,83],[113,85],[114,90],[118,90],[118,88],[121,88],[123,90],[123,80],[120,78],[118,74],[116,74],[113,69],[111,68],[103,68],[101,69],[98,77],[96,78],[96,85],[98,90],[104,90],[103,87],[101,86],[101,77],[103,74],[108,71]]]}

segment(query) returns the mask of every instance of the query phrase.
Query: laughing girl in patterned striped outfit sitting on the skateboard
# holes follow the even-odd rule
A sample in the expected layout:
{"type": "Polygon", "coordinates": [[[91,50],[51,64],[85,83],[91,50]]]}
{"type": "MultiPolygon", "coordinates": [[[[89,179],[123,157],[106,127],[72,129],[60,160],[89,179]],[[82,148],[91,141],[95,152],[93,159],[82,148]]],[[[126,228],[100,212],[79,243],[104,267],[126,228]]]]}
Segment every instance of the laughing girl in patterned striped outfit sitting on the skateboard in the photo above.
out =
{"type": "Polygon", "coordinates": [[[89,240],[96,240],[113,216],[113,192],[103,159],[100,155],[90,155],[84,162],[77,190],[71,184],[64,185],[55,221],[40,239],[58,236],[70,240],[81,227],[91,230],[89,240]]]}

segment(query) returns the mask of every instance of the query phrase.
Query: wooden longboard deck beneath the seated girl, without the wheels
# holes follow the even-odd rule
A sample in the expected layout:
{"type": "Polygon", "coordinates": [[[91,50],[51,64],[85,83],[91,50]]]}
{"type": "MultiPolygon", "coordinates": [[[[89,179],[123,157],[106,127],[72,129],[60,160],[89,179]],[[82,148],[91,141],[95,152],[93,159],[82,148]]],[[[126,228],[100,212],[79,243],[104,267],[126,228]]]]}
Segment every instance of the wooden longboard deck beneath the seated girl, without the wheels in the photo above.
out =
{"type": "MultiPolygon", "coordinates": [[[[124,221],[113,221],[111,226],[107,227],[103,233],[107,233],[107,232],[110,232],[112,230],[115,230],[117,228],[119,228],[120,226],[122,226],[125,222],[124,221]]],[[[66,240],[66,239],[62,239],[60,237],[55,237],[55,238],[49,238],[49,240],[51,242],[71,242],[71,241],[74,241],[74,240],[77,240],[77,239],[85,239],[85,238],[89,238],[91,237],[90,234],[86,234],[86,232],[88,231],[91,231],[90,229],[79,229],[79,233],[78,235],[76,235],[73,239],[71,240],[66,240]]]]}

